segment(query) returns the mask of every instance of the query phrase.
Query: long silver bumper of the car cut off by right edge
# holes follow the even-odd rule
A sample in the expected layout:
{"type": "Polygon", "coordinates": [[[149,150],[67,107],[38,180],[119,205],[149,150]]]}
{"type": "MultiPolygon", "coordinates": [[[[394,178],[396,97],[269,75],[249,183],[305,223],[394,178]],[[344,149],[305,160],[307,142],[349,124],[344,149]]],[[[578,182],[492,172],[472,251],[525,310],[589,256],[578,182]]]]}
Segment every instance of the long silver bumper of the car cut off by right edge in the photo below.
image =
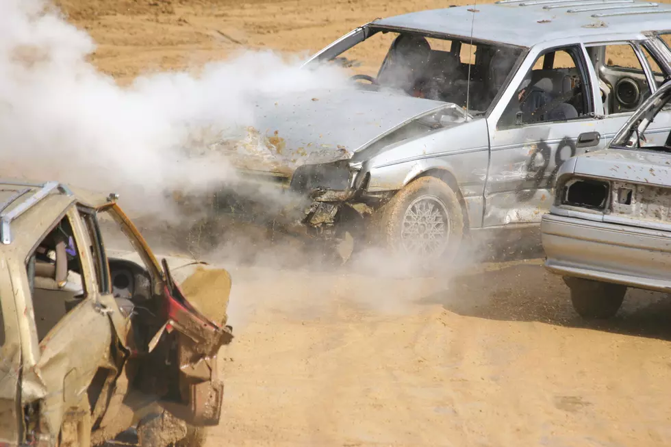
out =
{"type": "Polygon", "coordinates": [[[671,292],[671,232],[544,214],[541,237],[553,273],[671,292]]]}

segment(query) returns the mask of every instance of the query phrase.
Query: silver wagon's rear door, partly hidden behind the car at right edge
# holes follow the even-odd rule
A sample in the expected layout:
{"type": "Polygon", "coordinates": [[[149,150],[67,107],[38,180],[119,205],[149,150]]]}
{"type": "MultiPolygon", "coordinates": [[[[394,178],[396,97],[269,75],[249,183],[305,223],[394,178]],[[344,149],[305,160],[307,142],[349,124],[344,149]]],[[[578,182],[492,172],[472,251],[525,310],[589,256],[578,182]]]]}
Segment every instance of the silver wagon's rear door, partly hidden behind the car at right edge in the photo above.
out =
{"type": "MultiPolygon", "coordinates": [[[[631,114],[669,74],[646,48],[646,42],[611,41],[585,44],[603,104],[603,144],[607,145],[631,114]]],[[[663,145],[671,130],[671,109],[655,116],[646,130],[648,144],[663,145]]]]}

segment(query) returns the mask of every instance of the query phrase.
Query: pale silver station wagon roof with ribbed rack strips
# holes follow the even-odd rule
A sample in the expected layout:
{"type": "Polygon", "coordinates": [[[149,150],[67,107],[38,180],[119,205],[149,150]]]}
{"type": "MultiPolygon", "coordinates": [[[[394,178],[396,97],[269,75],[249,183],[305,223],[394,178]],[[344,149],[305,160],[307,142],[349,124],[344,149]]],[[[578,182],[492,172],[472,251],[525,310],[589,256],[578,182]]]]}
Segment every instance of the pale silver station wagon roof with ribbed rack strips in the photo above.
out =
{"type": "Polygon", "coordinates": [[[372,23],[519,47],[561,38],[671,29],[671,5],[634,0],[503,0],[411,12],[372,23]]]}

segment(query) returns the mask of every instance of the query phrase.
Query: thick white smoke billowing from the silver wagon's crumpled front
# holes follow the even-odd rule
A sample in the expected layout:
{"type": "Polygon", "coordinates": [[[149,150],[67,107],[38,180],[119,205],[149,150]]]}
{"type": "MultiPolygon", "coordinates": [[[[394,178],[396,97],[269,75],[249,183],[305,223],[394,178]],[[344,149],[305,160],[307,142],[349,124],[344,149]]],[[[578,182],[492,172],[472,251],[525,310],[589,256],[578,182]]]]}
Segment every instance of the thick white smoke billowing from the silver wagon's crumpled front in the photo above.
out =
{"type": "Polygon", "coordinates": [[[199,75],[153,73],[122,88],[88,62],[94,48],[43,0],[0,2],[1,175],[112,189],[122,202],[157,208],[166,190],[230,179],[223,159],[183,149],[203,134],[253,126],[251,94],[258,100],[346,79],[335,66],[308,71],[299,60],[246,51],[199,75]]]}

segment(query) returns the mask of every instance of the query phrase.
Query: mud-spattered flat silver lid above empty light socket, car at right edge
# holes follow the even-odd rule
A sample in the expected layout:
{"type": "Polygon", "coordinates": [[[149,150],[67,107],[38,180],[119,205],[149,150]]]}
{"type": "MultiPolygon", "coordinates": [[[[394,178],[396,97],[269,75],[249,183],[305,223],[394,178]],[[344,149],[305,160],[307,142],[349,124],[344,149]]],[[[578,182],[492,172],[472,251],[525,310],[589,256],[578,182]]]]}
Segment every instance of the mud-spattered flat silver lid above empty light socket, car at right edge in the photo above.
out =
{"type": "Polygon", "coordinates": [[[604,149],[576,157],[574,173],[671,186],[671,154],[635,149],[604,149]]]}

